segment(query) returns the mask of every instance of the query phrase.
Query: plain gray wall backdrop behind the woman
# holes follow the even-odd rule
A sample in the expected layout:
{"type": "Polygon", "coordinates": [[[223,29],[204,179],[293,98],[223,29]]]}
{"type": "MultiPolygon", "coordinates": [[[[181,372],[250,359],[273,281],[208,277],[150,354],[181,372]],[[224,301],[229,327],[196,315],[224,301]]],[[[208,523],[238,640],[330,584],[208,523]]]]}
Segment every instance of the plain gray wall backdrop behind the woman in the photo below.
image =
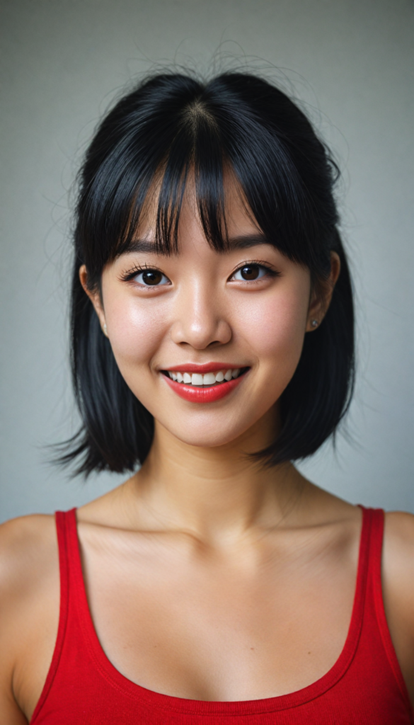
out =
{"type": "Polygon", "coordinates": [[[75,429],[67,366],[70,188],[125,84],[174,61],[250,67],[294,94],[343,172],[358,309],[349,444],[303,470],[352,502],[414,511],[410,0],[9,0],[1,9],[0,520],[79,505],[47,443],[75,429]]]}

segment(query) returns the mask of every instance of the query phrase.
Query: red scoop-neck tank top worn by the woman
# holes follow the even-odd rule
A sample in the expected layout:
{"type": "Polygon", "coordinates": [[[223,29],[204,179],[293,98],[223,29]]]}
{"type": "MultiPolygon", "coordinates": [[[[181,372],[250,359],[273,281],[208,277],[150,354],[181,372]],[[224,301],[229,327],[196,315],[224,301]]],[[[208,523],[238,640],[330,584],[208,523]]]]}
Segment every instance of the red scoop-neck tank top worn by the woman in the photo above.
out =
{"type": "Polygon", "coordinates": [[[413,710],[381,594],[384,513],[363,510],[355,600],[344,649],[317,682],[281,697],[204,702],[140,687],[109,662],[88,610],[75,510],[56,514],[61,603],[49,674],[31,725],[402,725],[413,710]]]}

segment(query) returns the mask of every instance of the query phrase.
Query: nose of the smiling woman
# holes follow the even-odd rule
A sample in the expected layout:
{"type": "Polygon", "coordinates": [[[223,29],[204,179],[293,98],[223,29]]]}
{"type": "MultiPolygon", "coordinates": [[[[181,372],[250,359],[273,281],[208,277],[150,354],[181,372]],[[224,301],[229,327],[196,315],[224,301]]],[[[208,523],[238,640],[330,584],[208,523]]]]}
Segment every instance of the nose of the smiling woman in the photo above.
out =
{"type": "Polygon", "coordinates": [[[231,340],[231,326],[225,317],[220,295],[200,281],[178,294],[171,336],[175,344],[202,350],[225,345],[231,340]]]}

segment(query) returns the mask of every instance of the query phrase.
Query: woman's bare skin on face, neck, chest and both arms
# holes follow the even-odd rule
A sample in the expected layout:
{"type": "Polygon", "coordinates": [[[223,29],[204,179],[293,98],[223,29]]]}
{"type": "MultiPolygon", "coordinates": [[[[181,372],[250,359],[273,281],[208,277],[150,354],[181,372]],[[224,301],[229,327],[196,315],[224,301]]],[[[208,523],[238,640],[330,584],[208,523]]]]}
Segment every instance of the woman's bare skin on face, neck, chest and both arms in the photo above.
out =
{"type": "MultiPolygon", "coordinates": [[[[277,434],[278,399],[312,320],[323,320],[339,258],[332,254],[330,278],[311,289],[306,268],[257,239],[231,181],[226,216],[234,248],[219,254],[204,239],[190,185],[178,254],[148,248],[149,204],[137,231],[147,248],[137,243],[107,265],[102,294],[80,268],[120,371],[155,419],[141,470],[78,510],[91,616],[122,674],[199,700],[283,695],[334,665],[351,618],[361,527],[360,508],[293,465],[265,469],[246,455],[277,434]],[[247,263],[258,265],[257,280],[241,277],[247,263]],[[159,284],[144,284],[149,268],[159,270],[159,284]],[[181,399],[161,373],[217,361],[249,371],[214,403],[181,399]]],[[[383,586],[414,700],[410,514],[386,515],[383,586]]],[[[0,613],[0,721],[20,725],[41,695],[57,635],[54,517],[0,527],[0,613]]]]}

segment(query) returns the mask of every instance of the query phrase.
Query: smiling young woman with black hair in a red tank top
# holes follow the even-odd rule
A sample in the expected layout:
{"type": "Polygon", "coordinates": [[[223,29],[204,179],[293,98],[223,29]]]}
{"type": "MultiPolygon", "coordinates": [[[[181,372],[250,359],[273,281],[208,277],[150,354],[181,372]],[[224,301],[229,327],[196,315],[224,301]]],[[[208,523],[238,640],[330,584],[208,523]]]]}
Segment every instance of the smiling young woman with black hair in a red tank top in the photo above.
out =
{"type": "Polygon", "coordinates": [[[335,178],[251,75],[158,75],[103,120],[64,460],[133,475],[1,527],[1,724],[413,722],[414,518],[292,463],[352,392],[335,178]]]}

